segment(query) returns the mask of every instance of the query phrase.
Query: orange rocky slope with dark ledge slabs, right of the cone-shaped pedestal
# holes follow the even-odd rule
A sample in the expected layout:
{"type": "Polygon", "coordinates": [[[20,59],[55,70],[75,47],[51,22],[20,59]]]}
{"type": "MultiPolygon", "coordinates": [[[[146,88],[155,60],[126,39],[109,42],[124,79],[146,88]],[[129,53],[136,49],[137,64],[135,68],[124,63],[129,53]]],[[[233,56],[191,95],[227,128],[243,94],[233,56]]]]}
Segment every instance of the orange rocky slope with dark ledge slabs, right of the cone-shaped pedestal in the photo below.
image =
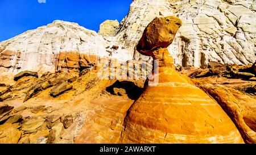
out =
{"type": "Polygon", "coordinates": [[[256,82],[255,77],[246,76],[254,73],[253,66],[210,62],[209,69],[183,68],[180,73],[192,77],[196,86],[220,104],[236,124],[245,143],[255,143],[256,82]]]}

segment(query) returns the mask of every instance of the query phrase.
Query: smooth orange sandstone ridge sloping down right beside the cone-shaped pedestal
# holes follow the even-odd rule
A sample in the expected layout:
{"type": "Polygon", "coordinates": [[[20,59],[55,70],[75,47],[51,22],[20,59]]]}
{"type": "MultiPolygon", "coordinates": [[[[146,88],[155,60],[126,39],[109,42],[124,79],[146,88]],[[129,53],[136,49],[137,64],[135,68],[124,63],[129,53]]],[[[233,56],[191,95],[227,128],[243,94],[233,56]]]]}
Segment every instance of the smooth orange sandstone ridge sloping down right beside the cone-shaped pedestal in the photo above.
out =
{"type": "Polygon", "coordinates": [[[255,99],[238,90],[225,86],[195,82],[202,90],[217,100],[229,117],[236,123],[246,143],[256,143],[255,99]]]}

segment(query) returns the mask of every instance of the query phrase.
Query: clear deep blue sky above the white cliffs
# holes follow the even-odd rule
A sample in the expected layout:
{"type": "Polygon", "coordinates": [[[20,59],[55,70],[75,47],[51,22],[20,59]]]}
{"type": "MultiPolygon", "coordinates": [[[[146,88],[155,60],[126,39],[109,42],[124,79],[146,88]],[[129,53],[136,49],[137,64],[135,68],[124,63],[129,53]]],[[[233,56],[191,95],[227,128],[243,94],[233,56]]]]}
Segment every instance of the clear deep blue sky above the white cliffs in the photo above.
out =
{"type": "Polygon", "coordinates": [[[0,41],[20,33],[65,20],[98,31],[106,19],[119,22],[132,0],[0,0],[0,41]],[[39,3],[46,1],[46,3],[39,3]]]}

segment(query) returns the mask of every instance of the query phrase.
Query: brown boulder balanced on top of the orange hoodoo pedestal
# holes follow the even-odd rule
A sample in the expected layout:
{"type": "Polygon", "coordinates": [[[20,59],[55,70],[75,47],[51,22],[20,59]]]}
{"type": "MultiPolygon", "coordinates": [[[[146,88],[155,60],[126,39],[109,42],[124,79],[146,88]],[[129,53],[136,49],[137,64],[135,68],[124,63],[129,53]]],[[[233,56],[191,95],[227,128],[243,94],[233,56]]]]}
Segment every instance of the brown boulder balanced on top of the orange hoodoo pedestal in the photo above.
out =
{"type": "Polygon", "coordinates": [[[152,56],[151,52],[155,49],[167,48],[181,25],[181,20],[176,16],[156,17],[144,30],[137,44],[137,51],[142,55],[152,56]]]}

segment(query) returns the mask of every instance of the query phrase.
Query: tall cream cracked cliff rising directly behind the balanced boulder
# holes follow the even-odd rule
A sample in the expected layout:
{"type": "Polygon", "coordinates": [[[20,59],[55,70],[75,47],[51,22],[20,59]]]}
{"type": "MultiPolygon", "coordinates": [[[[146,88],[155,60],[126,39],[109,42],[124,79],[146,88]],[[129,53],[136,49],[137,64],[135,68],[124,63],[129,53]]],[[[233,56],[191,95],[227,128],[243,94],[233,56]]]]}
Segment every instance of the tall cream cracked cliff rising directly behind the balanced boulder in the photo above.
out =
{"type": "MultiPolygon", "coordinates": [[[[255,1],[136,0],[121,22],[117,41],[134,48],[156,16],[178,16],[183,26],[168,48],[175,65],[203,67],[209,61],[249,64],[255,61],[255,1]]],[[[133,52],[133,49],[130,49],[133,52]]],[[[135,53],[139,59],[139,53],[135,53]]]]}

